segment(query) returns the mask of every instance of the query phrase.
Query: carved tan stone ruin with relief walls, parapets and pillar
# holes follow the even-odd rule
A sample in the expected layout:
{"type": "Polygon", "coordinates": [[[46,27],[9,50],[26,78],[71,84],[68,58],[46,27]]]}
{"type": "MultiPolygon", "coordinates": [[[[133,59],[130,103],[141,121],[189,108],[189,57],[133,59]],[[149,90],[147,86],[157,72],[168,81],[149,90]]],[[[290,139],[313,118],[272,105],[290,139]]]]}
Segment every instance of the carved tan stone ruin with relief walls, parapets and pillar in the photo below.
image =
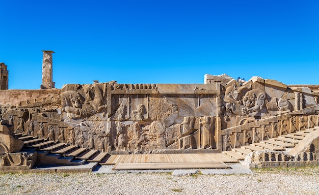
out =
{"type": "MultiPolygon", "coordinates": [[[[319,129],[314,130],[319,122],[319,85],[287,86],[260,77],[244,81],[207,74],[204,84],[111,81],[55,89],[48,68],[52,59],[46,58],[51,53],[43,54],[43,64],[48,64],[43,65],[39,90],[8,90],[8,77],[1,77],[6,87],[0,90],[0,170],[72,164],[47,155],[40,140],[48,143],[46,147],[59,143],[68,151],[78,147],[109,155],[224,152],[236,157],[245,154],[243,147],[261,147],[311,129],[315,133],[309,132],[297,149],[249,152],[245,163],[318,165],[319,129]],[[28,149],[28,144],[39,147],[28,149]]],[[[1,68],[3,73],[7,67],[1,68]]]]}

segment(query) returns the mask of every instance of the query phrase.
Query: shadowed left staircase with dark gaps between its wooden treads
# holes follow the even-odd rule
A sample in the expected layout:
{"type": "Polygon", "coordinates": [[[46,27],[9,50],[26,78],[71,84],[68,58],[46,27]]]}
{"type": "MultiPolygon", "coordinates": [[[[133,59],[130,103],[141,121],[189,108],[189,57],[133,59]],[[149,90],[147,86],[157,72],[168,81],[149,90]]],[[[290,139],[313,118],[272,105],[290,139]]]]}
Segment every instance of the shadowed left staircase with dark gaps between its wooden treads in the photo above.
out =
{"type": "MultiPolygon", "coordinates": [[[[90,162],[103,164],[110,157],[107,152],[49,141],[21,133],[15,133],[15,135],[24,142],[21,152],[37,152],[45,165],[83,165],[90,162]]],[[[39,164],[41,164],[41,160],[39,164]]]]}

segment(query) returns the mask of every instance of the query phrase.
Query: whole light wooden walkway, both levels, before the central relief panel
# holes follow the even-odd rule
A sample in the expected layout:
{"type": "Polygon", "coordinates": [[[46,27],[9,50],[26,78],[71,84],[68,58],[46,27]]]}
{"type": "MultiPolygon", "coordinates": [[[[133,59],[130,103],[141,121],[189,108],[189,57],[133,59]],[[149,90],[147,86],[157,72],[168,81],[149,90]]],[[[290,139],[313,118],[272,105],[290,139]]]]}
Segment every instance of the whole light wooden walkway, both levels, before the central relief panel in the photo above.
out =
{"type": "Polygon", "coordinates": [[[238,163],[238,160],[221,153],[127,154],[111,155],[102,165],[115,165],[116,170],[229,168],[224,163],[238,163]]]}

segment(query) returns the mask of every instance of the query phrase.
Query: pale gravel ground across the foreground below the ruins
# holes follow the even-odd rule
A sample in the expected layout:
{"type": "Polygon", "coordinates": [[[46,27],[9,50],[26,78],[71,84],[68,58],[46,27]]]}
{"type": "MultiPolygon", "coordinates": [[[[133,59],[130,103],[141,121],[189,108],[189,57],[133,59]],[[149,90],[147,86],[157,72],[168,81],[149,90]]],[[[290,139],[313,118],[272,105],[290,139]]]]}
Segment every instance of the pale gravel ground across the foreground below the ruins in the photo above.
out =
{"type": "Polygon", "coordinates": [[[0,174],[0,194],[319,194],[319,167],[253,174],[0,174]]]}

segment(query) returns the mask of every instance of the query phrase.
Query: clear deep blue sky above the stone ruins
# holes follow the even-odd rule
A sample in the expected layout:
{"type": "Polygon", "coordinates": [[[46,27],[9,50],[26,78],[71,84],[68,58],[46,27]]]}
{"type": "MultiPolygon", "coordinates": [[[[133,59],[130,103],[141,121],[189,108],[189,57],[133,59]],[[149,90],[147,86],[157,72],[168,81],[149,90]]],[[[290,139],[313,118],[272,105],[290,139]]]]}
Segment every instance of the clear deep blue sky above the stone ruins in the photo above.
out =
{"type": "Polygon", "coordinates": [[[319,84],[319,1],[1,1],[9,89],[54,81],[203,83],[226,73],[319,84]]]}

